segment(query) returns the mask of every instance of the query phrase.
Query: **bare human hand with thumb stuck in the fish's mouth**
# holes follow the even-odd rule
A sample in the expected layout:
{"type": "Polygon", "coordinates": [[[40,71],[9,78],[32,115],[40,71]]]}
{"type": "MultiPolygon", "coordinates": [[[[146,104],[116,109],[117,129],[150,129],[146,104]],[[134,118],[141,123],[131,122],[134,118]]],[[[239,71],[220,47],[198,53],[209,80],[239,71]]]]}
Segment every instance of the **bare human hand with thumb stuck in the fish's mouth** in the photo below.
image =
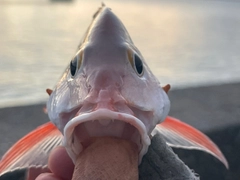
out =
{"type": "Polygon", "coordinates": [[[81,152],[76,164],[64,147],[55,148],[48,161],[51,173],[36,180],[138,179],[136,144],[118,138],[93,139],[81,152]]]}

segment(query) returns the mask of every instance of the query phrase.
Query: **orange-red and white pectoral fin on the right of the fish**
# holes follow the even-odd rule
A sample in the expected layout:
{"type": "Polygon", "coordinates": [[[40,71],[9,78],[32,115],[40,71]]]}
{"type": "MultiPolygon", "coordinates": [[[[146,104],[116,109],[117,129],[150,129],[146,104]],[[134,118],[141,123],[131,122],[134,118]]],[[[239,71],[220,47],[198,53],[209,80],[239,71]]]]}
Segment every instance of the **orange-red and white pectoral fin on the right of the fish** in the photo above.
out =
{"type": "Polygon", "coordinates": [[[168,116],[155,128],[172,147],[197,149],[212,154],[228,169],[228,162],[217,145],[194,127],[168,116]]]}

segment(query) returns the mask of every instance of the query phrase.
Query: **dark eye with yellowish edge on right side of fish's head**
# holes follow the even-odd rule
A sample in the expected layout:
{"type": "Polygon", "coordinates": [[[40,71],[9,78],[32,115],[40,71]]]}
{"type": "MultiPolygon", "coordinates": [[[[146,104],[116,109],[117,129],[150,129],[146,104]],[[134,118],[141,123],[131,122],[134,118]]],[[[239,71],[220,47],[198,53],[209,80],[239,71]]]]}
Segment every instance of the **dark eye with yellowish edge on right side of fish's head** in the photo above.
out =
{"type": "Polygon", "coordinates": [[[135,52],[128,50],[128,59],[132,65],[133,69],[137,73],[137,75],[142,76],[143,75],[143,62],[142,62],[141,58],[135,52]]]}

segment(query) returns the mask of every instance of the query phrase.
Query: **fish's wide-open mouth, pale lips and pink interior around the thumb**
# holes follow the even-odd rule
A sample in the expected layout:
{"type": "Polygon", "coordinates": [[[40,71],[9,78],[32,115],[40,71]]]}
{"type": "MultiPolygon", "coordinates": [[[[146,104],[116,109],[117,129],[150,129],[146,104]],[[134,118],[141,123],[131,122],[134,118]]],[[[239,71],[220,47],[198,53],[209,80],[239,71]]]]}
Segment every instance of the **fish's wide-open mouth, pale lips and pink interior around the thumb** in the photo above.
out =
{"type": "Polygon", "coordinates": [[[91,138],[106,136],[135,143],[139,150],[139,163],[150,145],[150,138],[141,120],[133,115],[109,109],[98,109],[71,119],[64,127],[63,144],[75,163],[91,138]]]}

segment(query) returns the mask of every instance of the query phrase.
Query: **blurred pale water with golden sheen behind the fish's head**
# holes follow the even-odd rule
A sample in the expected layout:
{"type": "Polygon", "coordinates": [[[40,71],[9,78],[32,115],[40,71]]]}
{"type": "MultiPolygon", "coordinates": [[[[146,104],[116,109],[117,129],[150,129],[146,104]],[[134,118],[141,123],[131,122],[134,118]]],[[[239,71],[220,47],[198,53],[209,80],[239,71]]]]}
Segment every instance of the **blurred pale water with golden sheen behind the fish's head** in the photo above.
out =
{"type": "MultiPolygon", "coordinates": [[[[104,1],[162,84],[240,81],[240,2],[104,1]]],[[[100,1],[0,1],[0,106],[43,102],[100,1]]]]}

